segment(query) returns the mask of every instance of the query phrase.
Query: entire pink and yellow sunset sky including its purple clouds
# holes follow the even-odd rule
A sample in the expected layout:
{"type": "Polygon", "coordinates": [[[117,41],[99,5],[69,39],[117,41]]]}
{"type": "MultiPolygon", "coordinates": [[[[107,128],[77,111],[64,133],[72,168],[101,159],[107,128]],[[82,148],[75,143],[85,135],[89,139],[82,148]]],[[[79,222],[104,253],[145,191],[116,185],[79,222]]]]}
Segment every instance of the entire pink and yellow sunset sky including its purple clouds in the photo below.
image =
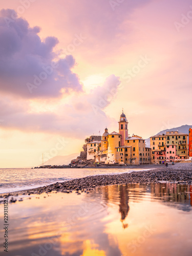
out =
{"type": "Polygon", "coordinates": [[[0,167],[191,121],[192,1],[2,0],[0,167]]]}

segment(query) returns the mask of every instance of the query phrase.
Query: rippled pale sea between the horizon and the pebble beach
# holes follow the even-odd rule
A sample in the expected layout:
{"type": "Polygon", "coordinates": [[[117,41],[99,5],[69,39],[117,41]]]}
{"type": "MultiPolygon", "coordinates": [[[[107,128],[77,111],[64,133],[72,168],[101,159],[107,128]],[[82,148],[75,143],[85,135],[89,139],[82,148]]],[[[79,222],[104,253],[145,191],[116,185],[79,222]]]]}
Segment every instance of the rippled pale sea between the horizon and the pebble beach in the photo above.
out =
{"type": "MultiPolygon", "coordinates": [[[[91,175],[130,173],[143,169],[0,169],[0,193],[24,190],[91,175]]],[[[146,169],[145,169],[146,170],[146,169]]]]}

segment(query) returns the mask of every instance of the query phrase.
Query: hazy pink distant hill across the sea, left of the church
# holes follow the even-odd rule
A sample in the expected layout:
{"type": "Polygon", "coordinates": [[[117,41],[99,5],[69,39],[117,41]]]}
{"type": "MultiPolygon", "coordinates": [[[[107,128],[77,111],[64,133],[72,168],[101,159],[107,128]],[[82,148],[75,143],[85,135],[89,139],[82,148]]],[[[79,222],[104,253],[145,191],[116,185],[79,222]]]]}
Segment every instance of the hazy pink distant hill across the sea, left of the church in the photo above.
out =
{"type": "Polygon", "coordinates": [[[80,153],[73,153],[73,154],[67,155],[67,156],[55,156],[55,157],[50,158],[48,161],[46,161],[44,163],[44,165],[69,164],[71,162],[71,160],[77,158],[79,155],[80,155],[80,153]]]}

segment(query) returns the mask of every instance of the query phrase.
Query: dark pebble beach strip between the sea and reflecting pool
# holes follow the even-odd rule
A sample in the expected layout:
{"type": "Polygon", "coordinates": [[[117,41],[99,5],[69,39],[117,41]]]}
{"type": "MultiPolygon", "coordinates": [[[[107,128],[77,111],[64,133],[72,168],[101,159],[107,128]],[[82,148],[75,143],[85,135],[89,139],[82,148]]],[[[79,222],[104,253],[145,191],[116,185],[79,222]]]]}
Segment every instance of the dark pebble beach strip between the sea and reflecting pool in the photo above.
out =
{"type": "MultiPolygon", "coordinates": [[[[140,166],[141,167],[141,166],[140,166]]],[[[17,196],[40,195],[42,193],[72,193],[75,191],[78,195],[81,193],[90,193],[96,187],[121,184],[144,184],[144,183],[177,183],[190,185],[192,183],[192,165],[176,164],[173,166],[161,166],[152,170],[142,170],[123,174],[94,175],[84,178],[77,178],[65,182],[56,182],[42,187],[15,191],[12,193],[3,193],[0,198],[9,198],[17,196]]],[[[1,200],[2,201],[2,200],[1,200]]],[[[11,199],[10,202],[16,202],[11,199]]]]}

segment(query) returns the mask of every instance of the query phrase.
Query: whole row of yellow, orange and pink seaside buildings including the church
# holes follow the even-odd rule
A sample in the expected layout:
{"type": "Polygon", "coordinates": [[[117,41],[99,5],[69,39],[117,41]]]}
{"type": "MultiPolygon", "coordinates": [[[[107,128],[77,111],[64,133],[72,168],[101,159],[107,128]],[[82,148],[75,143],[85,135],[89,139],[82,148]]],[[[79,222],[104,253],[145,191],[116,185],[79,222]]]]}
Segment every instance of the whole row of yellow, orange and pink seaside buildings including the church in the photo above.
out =
{"type": "Polygon", "coordinates": [[[129,135],[125,114],[120,115],[119,131],[109,133],[105,128],[102,136],[92,135],[86,138],[83,151],[71,163],[83,163],[92,160],[96,164],[164,164],[167,162],[185,162],[192,157],[192,129],[189,135],[178,131],[168,131],[150,137],[150,147],[145,139],[138,135],[129,135]],[[189,143],[188,143],[189,136],[189,143]]]}

